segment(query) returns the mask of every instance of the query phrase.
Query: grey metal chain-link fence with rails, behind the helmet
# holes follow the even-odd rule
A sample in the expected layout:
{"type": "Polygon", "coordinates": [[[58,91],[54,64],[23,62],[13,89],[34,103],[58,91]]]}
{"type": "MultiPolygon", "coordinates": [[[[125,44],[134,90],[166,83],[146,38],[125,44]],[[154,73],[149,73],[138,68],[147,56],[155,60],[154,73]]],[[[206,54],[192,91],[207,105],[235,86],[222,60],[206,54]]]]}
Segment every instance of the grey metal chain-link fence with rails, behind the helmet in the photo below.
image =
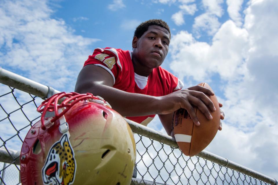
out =
{"type": "MultiPolygon", "coordinates": [[[[59,91],[1,68],[0,82],[0,185],[21,184],[19,155],[25,135],[41,116],[36,108],[47,94],[59,91]]],[[[131,184],[277,184],[206,151],[185,156],[171,136],[127,122],[135,132],[137,150],[137,177],[131,184]]]]}

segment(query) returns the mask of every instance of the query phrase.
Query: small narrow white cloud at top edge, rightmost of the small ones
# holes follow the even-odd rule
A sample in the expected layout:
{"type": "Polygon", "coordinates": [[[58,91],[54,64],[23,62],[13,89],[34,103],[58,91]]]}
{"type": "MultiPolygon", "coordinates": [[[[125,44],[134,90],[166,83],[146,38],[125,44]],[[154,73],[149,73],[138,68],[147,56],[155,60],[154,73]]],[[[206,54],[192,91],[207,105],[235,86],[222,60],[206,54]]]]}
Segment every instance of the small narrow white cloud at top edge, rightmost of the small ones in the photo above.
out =
{"type": "Polygon", "coordinates": [[[235,21],[237,26],[242,26],[242,15],[240,14],[243,0],[227,0],[228,9],[227,12],[231,19],[235,21]]]}

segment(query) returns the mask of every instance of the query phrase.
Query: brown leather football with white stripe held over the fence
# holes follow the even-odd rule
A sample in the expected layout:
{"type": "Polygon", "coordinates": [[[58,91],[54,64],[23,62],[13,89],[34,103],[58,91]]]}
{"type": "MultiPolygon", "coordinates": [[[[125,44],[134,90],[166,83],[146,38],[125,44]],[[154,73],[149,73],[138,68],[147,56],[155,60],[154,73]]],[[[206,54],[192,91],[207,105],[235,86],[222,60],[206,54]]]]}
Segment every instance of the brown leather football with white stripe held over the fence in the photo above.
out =
{"type": "MultiPolygon", "coordinates": [[[[207,83],[199,84],[203,87],[211,89],[207,83]]],[[[175,139],[180,147],[180,150],[187,156],[194,156],[200,153],[213,140],[220,125],[220,107],[216,96],[209,96],[214,104],[216,111],[211,113],[212,120],[206,116],[196,107],[196,116],[200,122],[199,126],[193,123],[190,115],[186,109],[179,109],[173,115],[173,128],[175,139]]]]}

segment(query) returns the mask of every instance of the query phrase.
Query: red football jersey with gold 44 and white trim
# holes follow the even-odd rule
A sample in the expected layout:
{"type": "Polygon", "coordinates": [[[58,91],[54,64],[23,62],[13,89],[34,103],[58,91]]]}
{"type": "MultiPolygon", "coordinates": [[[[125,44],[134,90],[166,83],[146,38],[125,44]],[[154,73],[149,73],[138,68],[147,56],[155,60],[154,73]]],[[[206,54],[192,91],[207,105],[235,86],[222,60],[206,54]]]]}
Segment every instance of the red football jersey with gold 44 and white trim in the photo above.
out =
{"type": "MultiPolygon", "coordinates": [[[[145,88],[140,89],[134,79],[130,51],[114,48],[96,48],[93,55],[90,55],[88,60],[85,61],[84,66],[88,64],[95,64],[106,69],[113,77],[113,87],[130,93],[164,96],[183,87],[183,83],[177,77],[162,69],[162,67],[158,67],[149,74],[145,88]]],[[[147,125],[154,116],[153,114],[126,118],[147,125]]]]}

